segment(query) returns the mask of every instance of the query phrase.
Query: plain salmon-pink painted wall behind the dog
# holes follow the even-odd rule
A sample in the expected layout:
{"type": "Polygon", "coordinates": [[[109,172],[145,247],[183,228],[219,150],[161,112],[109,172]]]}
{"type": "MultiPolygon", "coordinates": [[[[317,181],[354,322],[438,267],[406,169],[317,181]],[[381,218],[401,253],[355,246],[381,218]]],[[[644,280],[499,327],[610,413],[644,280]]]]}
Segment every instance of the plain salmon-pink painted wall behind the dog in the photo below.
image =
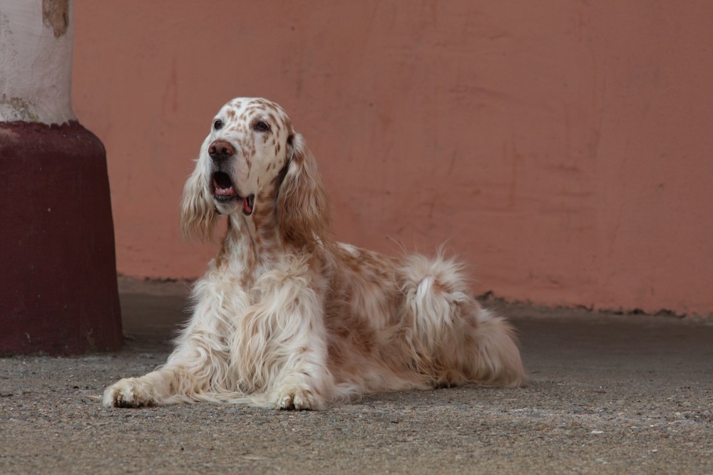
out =
{"type": "Polygon", "coordinates": [[[343,241],[447,241],[477,293],[713,313],[713,2],[76,0],[74,20],[120,273],[202,273],[183,182],[222,103],[260,95],[317,155],[343,241]]]}

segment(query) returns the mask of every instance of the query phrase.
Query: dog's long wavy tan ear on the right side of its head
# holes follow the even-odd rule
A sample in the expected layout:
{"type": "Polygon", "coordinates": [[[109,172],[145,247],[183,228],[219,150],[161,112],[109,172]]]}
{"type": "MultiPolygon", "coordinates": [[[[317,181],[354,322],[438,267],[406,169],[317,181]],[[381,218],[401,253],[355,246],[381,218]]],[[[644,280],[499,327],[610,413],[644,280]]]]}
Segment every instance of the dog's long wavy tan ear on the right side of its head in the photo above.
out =
{"type": "Polygon", "coordinates": [[[287,165],[277,192],[277,225],[282,239],[311,247],[329,244],[329,198],[317,161],[302,135],[287,139],[287,165]]]}

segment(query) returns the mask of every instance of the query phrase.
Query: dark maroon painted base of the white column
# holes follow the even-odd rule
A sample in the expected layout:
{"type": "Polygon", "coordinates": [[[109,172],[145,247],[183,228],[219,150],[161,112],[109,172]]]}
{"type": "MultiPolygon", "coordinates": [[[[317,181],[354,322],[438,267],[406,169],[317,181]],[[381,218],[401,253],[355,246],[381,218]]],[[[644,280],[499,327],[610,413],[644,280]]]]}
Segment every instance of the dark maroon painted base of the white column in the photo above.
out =
{"type": "Polygon", "coordinates": [[[121,341],[104,146],[78,122],[0,122],[0,354],[121,341]]]}

